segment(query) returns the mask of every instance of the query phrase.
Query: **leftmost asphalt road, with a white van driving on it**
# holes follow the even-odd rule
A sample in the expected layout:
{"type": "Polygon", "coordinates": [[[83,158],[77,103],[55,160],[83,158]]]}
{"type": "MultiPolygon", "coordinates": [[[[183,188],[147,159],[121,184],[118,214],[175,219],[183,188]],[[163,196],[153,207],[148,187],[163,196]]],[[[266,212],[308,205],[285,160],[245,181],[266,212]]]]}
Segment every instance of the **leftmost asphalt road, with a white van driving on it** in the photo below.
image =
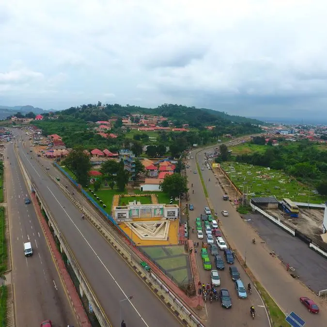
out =
{"type": "Polygon", "coordinates": [[[19,169],[13,144],[4,154],[11,164],[6,166],[12,281],[15,290],[16,326],[39,326],[51,319],[53,326],[77,326],[77,321],[52,260],[45,236],[28,197],[26,184],[19,169]],[[33,255],[25,257],[23,244],[31,242],[33,255]],[[55,289],[55,284],[58,290],[55,289]]]}

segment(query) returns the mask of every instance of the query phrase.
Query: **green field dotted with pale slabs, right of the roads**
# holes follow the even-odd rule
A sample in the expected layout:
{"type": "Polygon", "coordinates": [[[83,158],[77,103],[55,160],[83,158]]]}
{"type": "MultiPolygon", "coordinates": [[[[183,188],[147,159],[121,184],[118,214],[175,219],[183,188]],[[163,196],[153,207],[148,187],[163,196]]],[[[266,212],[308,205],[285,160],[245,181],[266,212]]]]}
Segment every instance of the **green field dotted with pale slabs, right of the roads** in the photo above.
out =
{"type": "Polygon", "coordinates": [[[310,200],[310,203],[326,201],[326,198],[314,194],[282,171],[237,162],[223,162],[221,168],[241,192],[252,196],[254,193],[257,197],[274,196],[277,200],[289,198],[295,202],[310,200]]]}

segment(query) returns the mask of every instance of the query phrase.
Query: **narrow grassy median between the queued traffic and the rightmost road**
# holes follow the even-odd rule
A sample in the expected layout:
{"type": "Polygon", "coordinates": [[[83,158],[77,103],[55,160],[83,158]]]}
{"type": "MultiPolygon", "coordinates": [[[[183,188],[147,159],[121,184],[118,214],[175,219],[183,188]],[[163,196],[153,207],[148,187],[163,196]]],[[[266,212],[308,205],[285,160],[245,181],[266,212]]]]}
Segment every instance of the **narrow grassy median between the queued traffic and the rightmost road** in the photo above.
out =
{"type": "MultiPolygon", "coordinates": [[[[196,157],[196,156],[197,156],[198,153],[201,152],[201,151],[202,151],[202,150],[198,151],[198,152],[196,153],[196,155],[195,155],[195,161],[196,161],[196,163],[197,163],[197,157],[196,157]]],[[[199,170],[199,174],[201,175],[201,179],[202,179],[202,173],[201,173],[200,170],[199,170]]],[[[204,192],[205,185],[202,184],[202,188],[203,188],[203,192],[204,192]]],[[[204,193],[208,194],[207,192],[204,192],[204,193]]],[[[214,216],[215,218],[218,218],[218,217],[214,214],[214,213],[215,213],[215,210],[214,210],[214,208],[213,208],[213,205],[212,205],[210,199],[209,199],[208,197],[205,197],[205,199],[206,199],[206,201],[207,201],[207,203],[208,203],[208,206],[209,206],[211,212],[213,213],[213,216],[214,216]]],[[[240,256],[240,254],[237,252],[237,249],[235,248],[234,243],[233,243],[232,241],[230,241],[230,240],[228,239],[228,237],[226,237],[226,233],[225,233],[225,231],[224,231],[223,224],[222,224],[220,221],[219,221],[218,224],[219,224],[219,228],[220,228],[221,233],[222,233],[222,234],[224,235],[224,237],[225,237],[225,241],[227,242],[227,244],[229,244],[229,246],[230,246],[231,249],[234,249],[234,253],[235,253],[235,257],[236,257],[236,259],[238,260],[238,262],[240,263],[240,265],[242,265],[242,267],[244,268],[244,271],[245,271],[246,274],[249,276],[249,279],[252,280],[253,284],[255,285],[255,283],[258,283],[258,281],[257,281],[256,278],[254,277],[254,275],[252,274],[252,272],[250,271],[250,269],[246,266],[245,261],[243,260],[243,258],[242,258],[242,257],[240,256]]],[[[266,314],[267,314],[268,319],[269,319],[269,324],[270,324],[270,326],[273,326],[273,322],[272,322],[271,316],[270,316],[270,314],[269,314],[269,309],[267,308],[267,304],[266,304],[266,302],[265,302],[263,296],[261,295],[260,291],[259,291],[255,286],[254,286],[254,288],[255,288],[255,290],[258,292],[258,294],[259,294],[259,296],[260,296],[260,298],[261,298],[263,304],[265,305],[265,311],[266,311],[266,314]]],[[[271,297],[271,298],[272,298],[272,297],[271,297]]],[[[272,298],[272,300],[274,301],[274,303],[276,303],[275,300],[274,300],[273,298],[272,298]]],[[[278,306],[277,303],[276,303],[276,306],[278,306]]]]}

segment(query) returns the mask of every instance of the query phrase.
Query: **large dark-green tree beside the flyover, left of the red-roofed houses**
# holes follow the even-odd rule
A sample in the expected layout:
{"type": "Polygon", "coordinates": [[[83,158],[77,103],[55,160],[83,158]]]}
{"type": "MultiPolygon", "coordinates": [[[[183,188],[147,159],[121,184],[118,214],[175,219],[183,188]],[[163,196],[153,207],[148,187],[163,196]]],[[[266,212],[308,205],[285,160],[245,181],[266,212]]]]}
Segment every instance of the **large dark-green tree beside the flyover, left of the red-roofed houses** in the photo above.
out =
{"type": "Polygon", "coordinates": [[[77,182],[82,186],[87,186],[89,181],[89,171],[92,167],[90,157],[84,153],[83,148],[72,150],[66,159],[63,160],[76,176],[77,182]]]}

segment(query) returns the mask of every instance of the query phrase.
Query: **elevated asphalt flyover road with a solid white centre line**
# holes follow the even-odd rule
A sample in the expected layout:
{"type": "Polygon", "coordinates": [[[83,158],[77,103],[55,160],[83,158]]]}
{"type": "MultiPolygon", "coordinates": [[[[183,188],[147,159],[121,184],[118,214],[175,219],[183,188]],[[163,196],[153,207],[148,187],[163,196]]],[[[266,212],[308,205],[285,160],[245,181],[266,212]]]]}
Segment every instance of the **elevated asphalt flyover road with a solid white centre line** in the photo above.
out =
{"type": "Polygon", "coordinates": [[[17,150],[112,325],[121,326],[122,316],[127,327],[180,326],[108,242],[81,219],[81,212],[38,166],[30,147],[19,146],[17,150]],[[125,300],[128,296],[133,299],[125,300]]]}

